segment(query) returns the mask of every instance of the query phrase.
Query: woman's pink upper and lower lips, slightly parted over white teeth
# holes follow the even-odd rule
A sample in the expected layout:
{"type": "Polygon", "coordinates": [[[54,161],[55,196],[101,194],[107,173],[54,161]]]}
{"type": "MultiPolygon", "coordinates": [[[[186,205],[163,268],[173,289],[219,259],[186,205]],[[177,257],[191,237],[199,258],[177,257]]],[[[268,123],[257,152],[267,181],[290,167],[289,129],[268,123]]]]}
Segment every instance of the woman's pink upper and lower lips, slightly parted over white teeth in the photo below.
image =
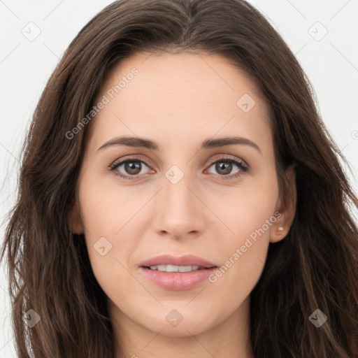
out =
{"type": "Polygon", "coordinates": [[[159,287],[171,289],[173,291],[182,291],[191,289],[206,280],[208,276],[215,271],[217,266],[201,257],[185,255],[175,257],[171,255],[162,255],[142,262],[139,270],[146,278],[154,282],[159,287]],[[201,269],[191,272],[163,272],[151,270],[149,266],[155,265],[176,265],[176,266],[200,266],[201,269]]]}

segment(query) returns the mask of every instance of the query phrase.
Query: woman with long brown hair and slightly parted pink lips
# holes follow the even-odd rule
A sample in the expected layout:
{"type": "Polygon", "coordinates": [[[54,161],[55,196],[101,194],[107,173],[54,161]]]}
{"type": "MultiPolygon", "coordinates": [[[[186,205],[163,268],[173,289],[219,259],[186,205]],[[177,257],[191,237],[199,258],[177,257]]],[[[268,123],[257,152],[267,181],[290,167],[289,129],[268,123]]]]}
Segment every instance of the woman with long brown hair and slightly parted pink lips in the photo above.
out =
{"type": "Polygon", "coordinates": [[[19,357],[358,357],[358,200],[239,0],[123,0],[38,103],[7,252],[19,357]]]}

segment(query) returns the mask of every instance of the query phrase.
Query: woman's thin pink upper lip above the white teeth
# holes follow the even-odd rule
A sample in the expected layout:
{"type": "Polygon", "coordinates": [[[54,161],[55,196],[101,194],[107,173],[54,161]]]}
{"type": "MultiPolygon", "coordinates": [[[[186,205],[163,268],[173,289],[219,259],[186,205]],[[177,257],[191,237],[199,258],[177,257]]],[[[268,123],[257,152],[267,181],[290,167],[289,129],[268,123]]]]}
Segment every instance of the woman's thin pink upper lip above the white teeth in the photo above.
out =
{"type": "Polygon", "coordinates": [[[212,262],[194,255],[185,255],[180,257],[173,255],[160,255],[142,262],[139,266],[150,267],[155,265],[199,266],[205,268],[217,267],[212,262]]]}

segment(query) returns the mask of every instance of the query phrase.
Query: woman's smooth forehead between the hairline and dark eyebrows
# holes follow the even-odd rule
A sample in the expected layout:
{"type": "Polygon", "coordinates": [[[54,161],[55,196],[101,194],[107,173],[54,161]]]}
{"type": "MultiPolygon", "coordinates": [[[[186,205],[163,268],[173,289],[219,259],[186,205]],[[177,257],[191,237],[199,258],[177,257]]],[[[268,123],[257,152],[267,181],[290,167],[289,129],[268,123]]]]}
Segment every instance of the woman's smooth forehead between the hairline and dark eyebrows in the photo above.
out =
{"type": "Polygon", "coordinates": [[[220,55],[136,53],[108,73],[100,101],[90,134],[97,144],[117,134],[166,144],[234,132],[271,141],[270,108],[256,83],[220,55]]]}

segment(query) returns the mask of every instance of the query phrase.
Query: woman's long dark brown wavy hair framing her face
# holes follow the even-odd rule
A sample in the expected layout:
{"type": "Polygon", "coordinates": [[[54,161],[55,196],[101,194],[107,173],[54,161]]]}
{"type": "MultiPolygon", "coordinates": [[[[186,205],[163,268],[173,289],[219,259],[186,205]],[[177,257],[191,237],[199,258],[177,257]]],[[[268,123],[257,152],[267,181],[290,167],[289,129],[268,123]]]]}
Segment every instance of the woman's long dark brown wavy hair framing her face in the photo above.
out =
{"type": "Polygon", "coordinates": [[[73,39],[48,80],[23,145],[7,252],[13,329],[20,358],[113,357],[106,294],[69,213],[90,113],[113,66],[139,51],[218,54],[250,74],[271,108],[276,170],[296,164],[297,205],[285,240],[270,244],[250,294],[257,358],[358,357],[358,206],[345,162],[317,113],[299,62],[271,24],[242,0],[122,0],[73,39]],[[41,317],[29,328],[22,316],[41,317]],[[309,320],[320,309],[320,328],[309,320]]]}

